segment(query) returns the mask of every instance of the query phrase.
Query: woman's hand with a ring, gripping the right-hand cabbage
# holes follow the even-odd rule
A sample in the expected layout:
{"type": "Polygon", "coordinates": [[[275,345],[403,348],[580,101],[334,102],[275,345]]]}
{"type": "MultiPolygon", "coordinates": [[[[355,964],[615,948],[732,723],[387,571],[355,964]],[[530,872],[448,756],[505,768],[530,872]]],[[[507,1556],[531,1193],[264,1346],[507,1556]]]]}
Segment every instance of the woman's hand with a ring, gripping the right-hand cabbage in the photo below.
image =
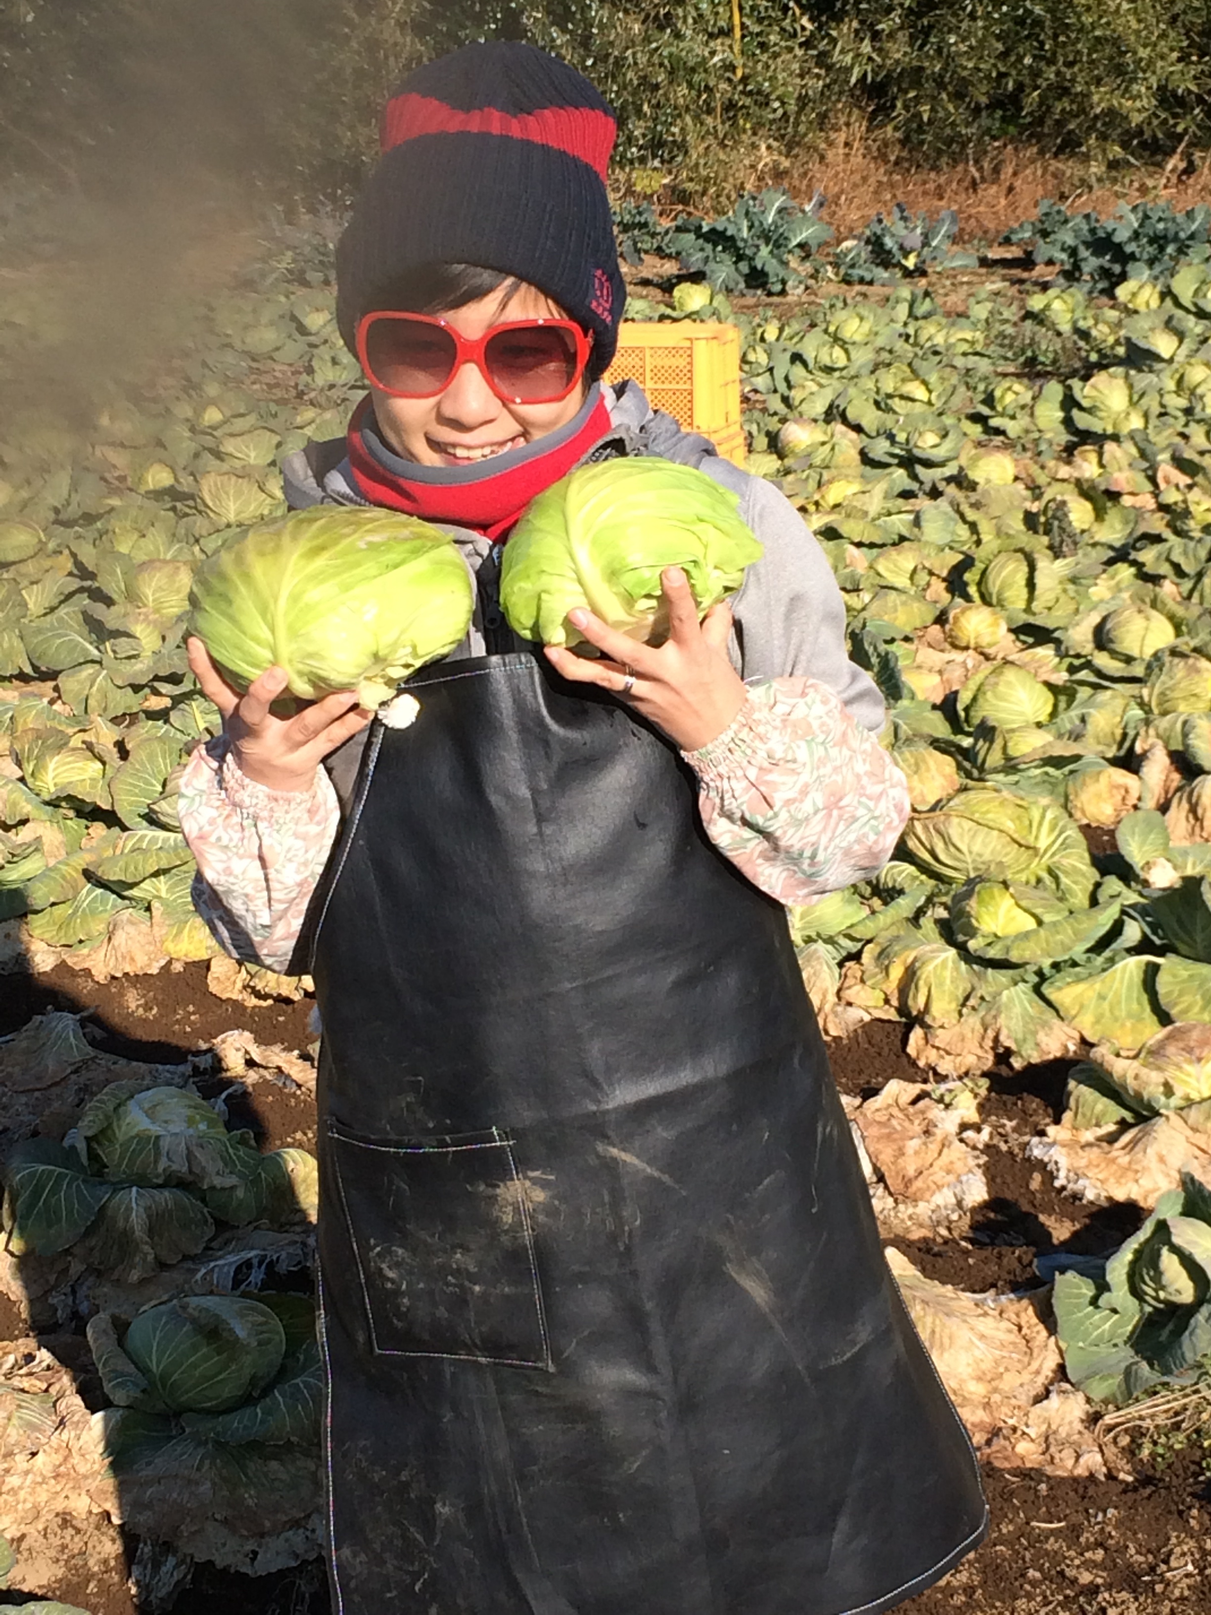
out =
{"type": "Polygon", "coordinates": [[[573,610],[568,620],[602,657],[588,661],[554,644],[546,654],[570,683],[597,685],[622,696],[681,751],[698,751],[723,733],[748,699],[744,682],[728,661],[731,607],[725,601],[712,606],[699,623],[685,572],[665,567],[660,583],[668,604],[668,638],[659,649],[628,640],[589,610],[573,610]]]}

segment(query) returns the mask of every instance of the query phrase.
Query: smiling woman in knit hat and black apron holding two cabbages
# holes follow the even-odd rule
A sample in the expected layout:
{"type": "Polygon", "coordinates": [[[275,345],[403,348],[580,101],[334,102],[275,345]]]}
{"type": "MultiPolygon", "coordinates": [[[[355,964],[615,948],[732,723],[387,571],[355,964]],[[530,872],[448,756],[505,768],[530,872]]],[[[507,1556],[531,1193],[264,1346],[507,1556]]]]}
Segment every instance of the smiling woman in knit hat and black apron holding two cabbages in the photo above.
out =
{"type": "Polygon", "coordinates": [[[346,1615],[875,1612],[983,1533],[780,906],[880,867],[903,778],[791,507],[599,381],[612,139],[570,68],[468,47],[389,103],[342,237],[370,396],[287,486],[452,530],[476,615],[417,722],[278,720],[281,670],[237,698],[192,644],[224,715],[182,787],[200,908],[323,1013],[346,1615]],[[615,454],[733,488],[764,557],[701,625],[670,568],[659,649],[581,614],[599,661],[539,652],[501,543],[615,454]]]}

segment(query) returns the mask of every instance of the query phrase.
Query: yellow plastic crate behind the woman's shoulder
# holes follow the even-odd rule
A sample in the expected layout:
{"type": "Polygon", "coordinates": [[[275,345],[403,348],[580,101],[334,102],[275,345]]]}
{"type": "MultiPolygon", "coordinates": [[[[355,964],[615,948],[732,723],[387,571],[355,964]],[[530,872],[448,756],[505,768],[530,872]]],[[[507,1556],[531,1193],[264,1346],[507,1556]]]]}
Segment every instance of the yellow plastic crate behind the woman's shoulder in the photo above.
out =
{"type": "Polygon", "coordinates": [[[748,457],[740,420],[740,331],[735,325],[623,320],[607,381],[638,381],[654,409],[710,438],[723,459],[748,457]]]}

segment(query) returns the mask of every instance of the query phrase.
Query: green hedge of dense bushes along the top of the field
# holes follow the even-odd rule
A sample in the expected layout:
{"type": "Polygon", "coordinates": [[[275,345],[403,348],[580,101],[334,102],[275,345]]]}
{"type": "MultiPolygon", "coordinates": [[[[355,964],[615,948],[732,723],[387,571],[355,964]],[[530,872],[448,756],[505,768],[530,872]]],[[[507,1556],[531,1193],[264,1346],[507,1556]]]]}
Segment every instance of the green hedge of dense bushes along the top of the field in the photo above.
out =
{"type": "MultiPolygon", "coordinates": [[[[0,162],[158,147],[313,197],[357,184],[410,63],[530,39],[622,116],[626,166],[735,184],[843,113],[927,158],[1022,141],[1098,162],[1211,145],[1211,0],[0,0],[0,162]]],[[[110,170],[113,163],[110,162],[110,170]]]]}

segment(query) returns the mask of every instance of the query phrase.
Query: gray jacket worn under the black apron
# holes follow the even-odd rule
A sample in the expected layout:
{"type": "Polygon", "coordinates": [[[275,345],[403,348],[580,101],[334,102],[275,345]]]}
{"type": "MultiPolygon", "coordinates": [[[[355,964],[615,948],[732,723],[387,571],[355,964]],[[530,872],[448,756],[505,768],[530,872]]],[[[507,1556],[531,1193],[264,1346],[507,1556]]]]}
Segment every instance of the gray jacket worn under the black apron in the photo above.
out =
{"type": "MultiPolygon", "coordinates": [[[[694,465],[740,494],[741,515],[765,546],[764,556],[749,567],[738,594],[731,599],[735,614],[731,661],[740,675],[752,683],[781,677],[815,678],[836,691],[864,728],[882,728],[883,698],[846,654],[841,591],[823,551],[794,505],[772,483],[722,459],[707,438],[683,431],[672,415],[654,410],[635,381],[623,381],[618,388],[602,384],[602,394],[612,430],[589,451],[586,460],[649,454],[694,465]]],[[[585,413],[596,404],[596,396],[593,389],[585,410],[565,428],[567,431],[578,428],[585,413]]],[[[513,451],[489,462],[491,470],[484,468],[483,475],[502,470],[505,462],[512,465],[517,457],[544,452],[551,446],[549,439],[541,439],[513,451]]],[[[418,472],[428,480],[465,475],[462,468],[444,473],[441,468],[405,465],[375,439],[370,441],[370,447],[384,459],[388,468],[405,470],[410,476],[418,472]]],[[[308,444],[307,449],[292,454],[283,465],[283,478],[292,509],[321,502],[367,502],[352,484],[344,439],[308,444]]],[[[478,596],[470,633],[454,656],[483,656],[489,641],[499,649],[501,633],[507,633],[497,599],[499,544],[467,528],[446,530],[476,580],[478,596]]]]}

